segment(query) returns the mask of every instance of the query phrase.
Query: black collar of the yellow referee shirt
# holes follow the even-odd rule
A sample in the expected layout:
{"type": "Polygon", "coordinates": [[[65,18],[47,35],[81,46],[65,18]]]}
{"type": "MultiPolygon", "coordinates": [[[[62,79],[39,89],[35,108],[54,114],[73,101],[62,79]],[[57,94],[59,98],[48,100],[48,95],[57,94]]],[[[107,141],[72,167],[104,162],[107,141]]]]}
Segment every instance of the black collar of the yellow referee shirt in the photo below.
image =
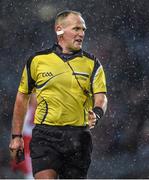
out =
{"type": "Polygon", "coordinates": [[[53,51],[55,54],[57,54],[63,61],[69,61],[71,59],[74,59],[75,57],[82,57],[83,56],[83,51],[80,49],[79,51],[73,51],[72,54],[65,54],[63,53],[62,47],[58,44],[55,43],[53,46],[53,51]]]}

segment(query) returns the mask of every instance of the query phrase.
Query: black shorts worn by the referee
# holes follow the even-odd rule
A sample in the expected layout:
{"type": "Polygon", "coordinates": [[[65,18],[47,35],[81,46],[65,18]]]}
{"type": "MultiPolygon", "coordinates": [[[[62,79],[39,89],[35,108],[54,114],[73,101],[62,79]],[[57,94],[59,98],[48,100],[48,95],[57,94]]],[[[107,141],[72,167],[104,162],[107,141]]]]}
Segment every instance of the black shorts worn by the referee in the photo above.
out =
{"type": "Polygon", "coordinates": [[[89,127],[36,125],[30,153],[33,175],[54,169],[60,179],[87,178],[92,138],[89,127]]]}

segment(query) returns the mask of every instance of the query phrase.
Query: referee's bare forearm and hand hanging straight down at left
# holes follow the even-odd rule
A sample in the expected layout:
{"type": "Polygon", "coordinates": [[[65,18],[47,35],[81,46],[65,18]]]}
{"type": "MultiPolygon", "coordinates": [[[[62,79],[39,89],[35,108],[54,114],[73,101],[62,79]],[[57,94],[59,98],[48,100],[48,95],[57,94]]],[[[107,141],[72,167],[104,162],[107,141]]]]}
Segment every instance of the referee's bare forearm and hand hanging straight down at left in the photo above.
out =
{"type": "MultiPolygon", "coordinates": [[[[20,135],[22,134],[23,130],[23,124],[24,124],[24,116],[26,114],[29,95],[23,94],[18,92],[15,106],[14,106],[14,112],[13,112],[13,119],[12,119],[12,134],[20,135]]],[[[14,139],[11,139],[9,148],[11,150],[18,150],[19,148],[23,148],[24,143],[23,139],[20,137],[16,137],[14,139]]]]}

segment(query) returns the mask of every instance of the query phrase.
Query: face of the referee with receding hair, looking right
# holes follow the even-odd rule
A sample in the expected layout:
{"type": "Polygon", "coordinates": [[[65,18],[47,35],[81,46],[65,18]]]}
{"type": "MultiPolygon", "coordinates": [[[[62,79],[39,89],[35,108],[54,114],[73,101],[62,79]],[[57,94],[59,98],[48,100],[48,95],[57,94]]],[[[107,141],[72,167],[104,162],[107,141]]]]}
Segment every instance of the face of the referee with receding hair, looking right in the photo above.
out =
{"type": "Polygon", "coordinates": [[[82,48],[86,25],[84,19],[75,14],[70,14],[63,22],[64,34],[60,39],[60,45],[64,53],[71,53],[82,48]]]}

